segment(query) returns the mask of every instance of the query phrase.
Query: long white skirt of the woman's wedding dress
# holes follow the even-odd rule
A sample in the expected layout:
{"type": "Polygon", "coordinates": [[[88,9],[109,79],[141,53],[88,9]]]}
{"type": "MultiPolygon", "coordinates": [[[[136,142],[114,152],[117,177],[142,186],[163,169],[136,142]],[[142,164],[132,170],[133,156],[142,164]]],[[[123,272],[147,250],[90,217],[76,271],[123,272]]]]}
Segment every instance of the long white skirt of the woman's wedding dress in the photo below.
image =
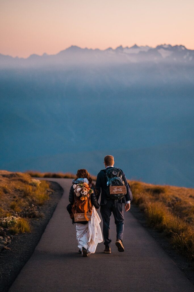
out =
{"type": "Polygon", "coordinates": [[[76,238],[80,250],[84,247],[88,252],[95,253],[97,244],[103,241],[100,222],[100,217],[93,208],[91,221],[88,221],[87,224],[76,223],[76,238]]]}

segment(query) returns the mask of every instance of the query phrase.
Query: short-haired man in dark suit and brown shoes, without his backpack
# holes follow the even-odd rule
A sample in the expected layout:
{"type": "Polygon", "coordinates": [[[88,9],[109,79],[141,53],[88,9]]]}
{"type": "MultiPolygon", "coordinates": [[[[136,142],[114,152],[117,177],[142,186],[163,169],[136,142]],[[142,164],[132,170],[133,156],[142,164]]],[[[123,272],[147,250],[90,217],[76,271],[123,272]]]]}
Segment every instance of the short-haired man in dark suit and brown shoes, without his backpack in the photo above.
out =
{"type": "MultiPolygon", "coordinates": [[[[112,155],[106,155],[104,157],[104,165],[105,168],[114,167],[114,157],[112,155]]],[[[124,251],[124,246],[122,243],[123,237],[123,230],[124,230],[124,216],[123,216],[123,206],[125,204],[125,211],[127,212],[130,209],[130,200],[132,200],[131,192],[129,189],[129,185],[127,183],[127,179],[125,174],[122,172],[122,180],[127,188],[127,194],[121,200],[112,200],[107,199],[106,197],[106,170],[101,170],[96,179],[96,191],[97,191],[97,199],[99,199],[101,193],[101,201],[100,201],[100,213],[102,215],[103,220],[103,236],[104,236],[104,253],[111,253],[111,248],[109,244],[111,243],[110,239],[110,217],[111,213],[115,218],[116,230],[117,230],[117,240],[115,242],[116,246],[118,247],[118,251],[124,251]]]]}

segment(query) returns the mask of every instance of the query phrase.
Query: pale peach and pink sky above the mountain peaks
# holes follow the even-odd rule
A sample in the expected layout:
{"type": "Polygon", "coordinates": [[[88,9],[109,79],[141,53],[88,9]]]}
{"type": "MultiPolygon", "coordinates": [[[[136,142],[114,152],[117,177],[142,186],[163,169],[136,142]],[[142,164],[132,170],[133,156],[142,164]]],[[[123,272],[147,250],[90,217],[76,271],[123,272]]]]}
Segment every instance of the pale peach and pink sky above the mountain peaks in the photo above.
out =
{"type": "Polygon", "coordinates": [[[0,0],[0,53],[28,57],[76,45],[194,49],[193,0],[0,0]]]}

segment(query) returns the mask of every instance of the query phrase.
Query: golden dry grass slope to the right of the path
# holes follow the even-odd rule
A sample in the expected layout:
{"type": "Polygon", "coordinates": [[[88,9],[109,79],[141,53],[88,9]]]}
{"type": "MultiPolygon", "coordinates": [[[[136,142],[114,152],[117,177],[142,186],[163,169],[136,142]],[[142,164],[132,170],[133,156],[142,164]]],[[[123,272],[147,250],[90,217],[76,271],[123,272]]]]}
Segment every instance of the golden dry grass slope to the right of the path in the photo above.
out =
{"type": "Polygon", "coordinates": [[[172,245],[194,260],[194,189],[129,181],[133,203],[149,225],[164,231],[172,245]]]}

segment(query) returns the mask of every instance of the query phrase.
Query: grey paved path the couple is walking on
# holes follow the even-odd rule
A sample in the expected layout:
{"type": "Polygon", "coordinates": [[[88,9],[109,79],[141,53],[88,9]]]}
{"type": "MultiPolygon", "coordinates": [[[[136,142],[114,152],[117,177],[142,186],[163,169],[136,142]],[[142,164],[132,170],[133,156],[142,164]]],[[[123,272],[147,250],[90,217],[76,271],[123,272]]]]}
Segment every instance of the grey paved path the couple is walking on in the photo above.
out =
{"type": "Polygon", "coordinates": [[[49,179],[64,189],[56,210],[29,261],[9,292],[193,292],[194,286],[138,220],[125,213],[124,246],[115,246],[111,219],[111,254],[103,243],[95,254],[78,254],[75,225],[66,211],[71,179],[49,179]]]}

